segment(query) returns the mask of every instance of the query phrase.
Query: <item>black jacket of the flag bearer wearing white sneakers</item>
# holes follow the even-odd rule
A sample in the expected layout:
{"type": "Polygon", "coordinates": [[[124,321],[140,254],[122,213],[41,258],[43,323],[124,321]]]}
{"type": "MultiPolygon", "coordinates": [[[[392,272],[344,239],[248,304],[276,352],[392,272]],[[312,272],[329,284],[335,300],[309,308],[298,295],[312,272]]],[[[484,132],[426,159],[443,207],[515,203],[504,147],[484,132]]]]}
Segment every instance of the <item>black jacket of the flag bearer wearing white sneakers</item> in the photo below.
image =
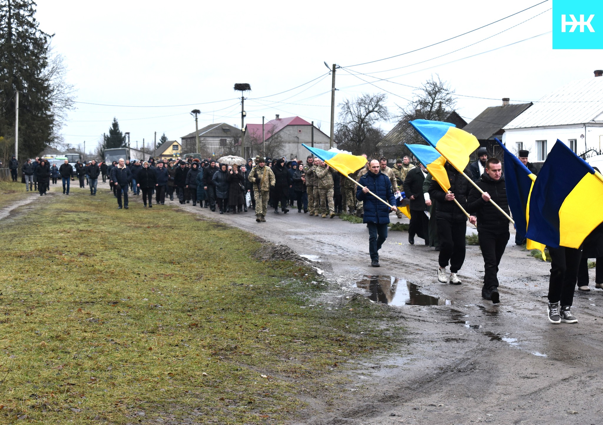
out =
{"type": "MultiPolygon", "coordinates": [[[[469,195],[470,183],[456,169],[446,163],[446,172],[450,181],[450,192],[455,195],[456,200],[464,208],[467,204],[467,195],[469,195]]],[[[469,173],[469,169],[464,170],[465,174],[469,173]]],[[[435,218],[445,219],[450,222],[467,221],[467,216],[456,205],[455,201],[446,201],[446,192],[442,190],[440,184],[434,179],[429,186],[429,197],[435,201],[435,218]]]]}

